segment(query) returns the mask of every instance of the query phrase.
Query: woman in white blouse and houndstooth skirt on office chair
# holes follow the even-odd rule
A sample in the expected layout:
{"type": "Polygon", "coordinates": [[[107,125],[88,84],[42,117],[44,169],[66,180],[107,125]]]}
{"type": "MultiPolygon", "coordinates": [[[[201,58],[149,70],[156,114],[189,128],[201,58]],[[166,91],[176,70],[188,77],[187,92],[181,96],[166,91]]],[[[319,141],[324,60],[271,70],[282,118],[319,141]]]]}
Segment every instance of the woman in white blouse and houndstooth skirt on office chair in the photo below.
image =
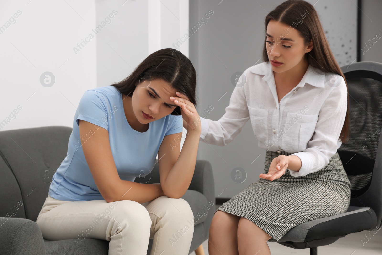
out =
{"type": "Polygon", "coordinates": [[[263,63],[246,69],[200,140],[225,146],[251,120],[264,174],[215,211],[209,254],[270,254],[267,240],[346,212],[351,184],[337,149],[348,136],[348,90],[314,7],[286,1],[265,18],[263,63]]]}

